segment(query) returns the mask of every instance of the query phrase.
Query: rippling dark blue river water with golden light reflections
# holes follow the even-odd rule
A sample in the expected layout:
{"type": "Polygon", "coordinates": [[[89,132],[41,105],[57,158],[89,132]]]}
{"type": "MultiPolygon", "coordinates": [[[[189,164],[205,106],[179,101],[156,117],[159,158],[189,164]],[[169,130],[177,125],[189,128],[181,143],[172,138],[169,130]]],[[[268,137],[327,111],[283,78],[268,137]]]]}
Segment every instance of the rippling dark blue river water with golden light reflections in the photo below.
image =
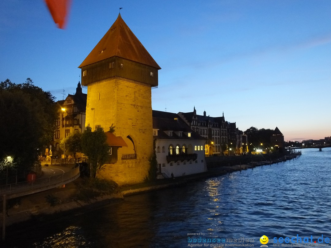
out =
{"type": "Polygon", "coordinates": [[[330,166],[331,148],[302,149],[285,163],[24,222],[1,247],[260,247],[262,235],[269,247],[328,247],[330,166]]]}

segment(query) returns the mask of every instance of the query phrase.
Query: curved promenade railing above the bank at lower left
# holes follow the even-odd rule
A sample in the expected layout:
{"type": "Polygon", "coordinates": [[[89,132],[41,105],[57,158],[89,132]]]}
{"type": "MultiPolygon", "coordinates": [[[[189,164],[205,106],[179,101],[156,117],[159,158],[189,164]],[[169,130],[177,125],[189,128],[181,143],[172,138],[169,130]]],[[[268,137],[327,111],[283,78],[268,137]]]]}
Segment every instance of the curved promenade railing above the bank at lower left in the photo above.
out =
{"type": "Polygon", "coordinates": [[[75,168],[62,174],[50,176],[48,178],[39,178],[33,181],[25,181],[7,185],[0,185],[0,195],[7,195],[7,199],[15,198],[23,195],[33,194],[47,189],[55,188],[79,177],[79,165],[75,168]]]}

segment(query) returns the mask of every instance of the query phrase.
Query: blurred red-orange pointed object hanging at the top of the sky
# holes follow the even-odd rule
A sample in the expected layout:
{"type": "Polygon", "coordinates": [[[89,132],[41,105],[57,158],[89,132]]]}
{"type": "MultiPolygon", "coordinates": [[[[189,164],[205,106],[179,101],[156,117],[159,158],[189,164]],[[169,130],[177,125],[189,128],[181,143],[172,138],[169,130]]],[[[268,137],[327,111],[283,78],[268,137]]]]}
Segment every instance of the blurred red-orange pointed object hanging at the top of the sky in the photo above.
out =
{"type": "Polygon", "coordinates": [[[53,20],[58,24],[59,28],[64,29],[67,23],[67,15],[71,0],[44,0],[47,4],[49,12],[53,17],[53,20]]]}

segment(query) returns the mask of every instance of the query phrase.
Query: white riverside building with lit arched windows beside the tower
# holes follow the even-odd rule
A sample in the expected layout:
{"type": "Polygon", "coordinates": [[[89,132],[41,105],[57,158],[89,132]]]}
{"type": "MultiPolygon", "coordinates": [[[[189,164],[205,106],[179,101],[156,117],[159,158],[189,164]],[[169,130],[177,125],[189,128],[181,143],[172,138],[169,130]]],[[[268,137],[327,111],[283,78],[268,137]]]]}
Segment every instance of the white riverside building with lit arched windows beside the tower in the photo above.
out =
{"type": "Polygon", "coordinates": [[[207,171],[205,138],[178,114],[153,110],[153,137],[159,179],[207,171]]]}

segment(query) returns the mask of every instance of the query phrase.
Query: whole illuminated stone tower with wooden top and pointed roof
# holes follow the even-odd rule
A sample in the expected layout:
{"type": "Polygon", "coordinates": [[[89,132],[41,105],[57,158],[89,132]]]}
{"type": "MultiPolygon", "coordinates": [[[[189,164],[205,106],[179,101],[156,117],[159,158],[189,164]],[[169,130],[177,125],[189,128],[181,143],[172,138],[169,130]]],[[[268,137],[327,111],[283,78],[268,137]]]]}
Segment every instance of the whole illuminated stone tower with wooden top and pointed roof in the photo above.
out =
{"type": "Polygon", "coordinates": [[[107,132],[113,124],[127,144],[98,176],[119,185],[142,182],[153,154],[151,88],[158,86],[160,66],[118,15],[79,68],[87,87],[86,125],[107,132]]]}

